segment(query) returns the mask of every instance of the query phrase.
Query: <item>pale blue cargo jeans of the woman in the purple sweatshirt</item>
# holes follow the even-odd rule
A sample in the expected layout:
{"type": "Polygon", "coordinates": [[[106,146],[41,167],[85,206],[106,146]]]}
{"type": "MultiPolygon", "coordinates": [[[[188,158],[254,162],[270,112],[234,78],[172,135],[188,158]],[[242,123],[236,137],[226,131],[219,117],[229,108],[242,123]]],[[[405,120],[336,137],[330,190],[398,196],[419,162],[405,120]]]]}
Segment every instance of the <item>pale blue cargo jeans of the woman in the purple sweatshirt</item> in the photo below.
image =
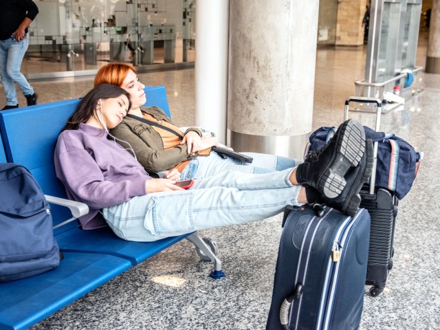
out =
{"type": "Polygon", "coordinates": [[[292,168],[267,174],[222,172],[183,191],[155,192],[104,208],[111,229],[127,241],[157,241],[207,228],[267,219],[300,206],[292,168]]]}

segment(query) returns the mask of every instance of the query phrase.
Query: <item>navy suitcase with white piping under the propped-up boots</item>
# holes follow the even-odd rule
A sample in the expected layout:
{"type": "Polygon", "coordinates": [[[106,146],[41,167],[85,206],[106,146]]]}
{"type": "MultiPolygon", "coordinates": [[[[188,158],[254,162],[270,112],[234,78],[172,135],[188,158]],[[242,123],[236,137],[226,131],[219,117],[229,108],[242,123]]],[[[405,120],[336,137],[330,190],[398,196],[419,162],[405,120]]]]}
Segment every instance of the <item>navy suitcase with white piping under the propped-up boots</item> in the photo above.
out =
{"type": "Polygon", "coordinates": [[[266,329],[358,329],[369,230],[362,208],[286,208],[266,329]]]}

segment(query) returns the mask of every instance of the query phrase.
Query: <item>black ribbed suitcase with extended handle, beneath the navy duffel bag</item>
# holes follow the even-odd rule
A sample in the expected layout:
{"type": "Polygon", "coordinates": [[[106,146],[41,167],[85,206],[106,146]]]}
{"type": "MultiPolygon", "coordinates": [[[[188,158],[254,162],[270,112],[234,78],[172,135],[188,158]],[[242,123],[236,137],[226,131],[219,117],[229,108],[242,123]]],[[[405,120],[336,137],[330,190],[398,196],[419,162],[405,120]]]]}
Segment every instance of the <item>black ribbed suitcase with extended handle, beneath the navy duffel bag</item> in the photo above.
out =
{"type": "MultiPolygon", "coordinates": [[[[375,98],[347,98],[345,101],[344,120],[349,116],[349,103],[363,102],[377,105],[375,131],[380,129],[382,102],[375,98]]],[[[360,192],[360,207],[369,211],[371,217],[369,263],[366,270],[366,285],[372,285],[369,292],[377,296],[384,291],[388,271],[393,267],[393,241],[397,206],[399,199],[390,190],[375,187],[377,144],[374,143],[374,162],[371,173],[371,184],[364,186],[360,192]]]]}

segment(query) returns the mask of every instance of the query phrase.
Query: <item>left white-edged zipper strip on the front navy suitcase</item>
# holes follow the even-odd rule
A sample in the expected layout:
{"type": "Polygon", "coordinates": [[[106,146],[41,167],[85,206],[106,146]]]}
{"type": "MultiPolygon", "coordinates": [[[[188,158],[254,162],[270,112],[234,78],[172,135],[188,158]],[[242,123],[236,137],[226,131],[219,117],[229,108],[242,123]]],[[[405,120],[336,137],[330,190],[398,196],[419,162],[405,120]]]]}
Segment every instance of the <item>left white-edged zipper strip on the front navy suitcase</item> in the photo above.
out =
{"type": "MultiPolygon", "coordinates": [[[[301,248],[300,248],[298,268],[296,270],[294,294],[292,296],[289,296],[289,298],[285,300],[287,303],[289,303],[289,301],[292,302],[291,305],[289,306],[290,317],[287,325],[289,327],[288,329],[292,329],[291,328],[292,321],[295,322],[294,329],[298,329],[301,305],[303,303],[303,287],[305,285],[305,279],[307,278],[307,270],[309,266],[309,257],[311,254],[311,248],[313,246],[315,234],[318,231],[319,225],[322,223],[322,220],[324,220],[330,212],[331,209],[329,210],[329,212],[327,212],[327,214],[325,214],[323,217],[320,218],[314,216],[309,222],[309,225],[307,225],[304,239],[303,242],[301,243],[301,248]]],[[[283,303],[283,307],[286,307],[284,303],[283,303]]],[[[283,307],[280,311],[280,314],[283,311],[283,307]]]]}

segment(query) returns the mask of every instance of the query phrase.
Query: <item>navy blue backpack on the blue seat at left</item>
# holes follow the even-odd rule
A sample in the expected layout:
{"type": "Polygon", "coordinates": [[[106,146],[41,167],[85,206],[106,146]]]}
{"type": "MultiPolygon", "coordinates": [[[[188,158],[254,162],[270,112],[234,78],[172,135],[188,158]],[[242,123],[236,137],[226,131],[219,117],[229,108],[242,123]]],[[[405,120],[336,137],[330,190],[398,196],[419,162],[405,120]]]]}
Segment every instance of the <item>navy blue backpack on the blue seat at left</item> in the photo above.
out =
{"type": "Polygon", "coordinates": [[[23,166],[0,163],[0,282],[54,269],[60,252],[40,186],[23,166]]]}

